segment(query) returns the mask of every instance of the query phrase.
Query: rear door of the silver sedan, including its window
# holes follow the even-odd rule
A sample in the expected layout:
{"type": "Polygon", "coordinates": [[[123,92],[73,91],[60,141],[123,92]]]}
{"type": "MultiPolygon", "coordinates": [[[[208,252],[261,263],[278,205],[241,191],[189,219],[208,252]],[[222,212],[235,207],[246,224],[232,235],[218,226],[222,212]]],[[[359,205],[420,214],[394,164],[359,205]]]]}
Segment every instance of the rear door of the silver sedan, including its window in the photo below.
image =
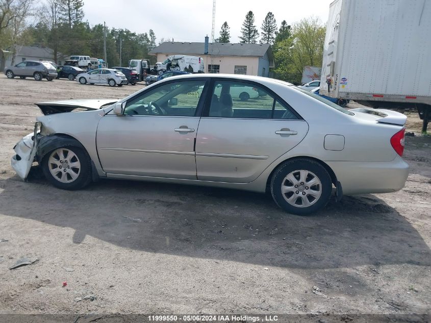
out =
{"type": "Polygon", "coordinates": [[[248,183],[296,146],[308,124],[280,97],[257,83],[220,79],[209,91],[196,137],[198,180],[248,183]],[[238,87],[262,96],[243,101],[238,87]]]}

